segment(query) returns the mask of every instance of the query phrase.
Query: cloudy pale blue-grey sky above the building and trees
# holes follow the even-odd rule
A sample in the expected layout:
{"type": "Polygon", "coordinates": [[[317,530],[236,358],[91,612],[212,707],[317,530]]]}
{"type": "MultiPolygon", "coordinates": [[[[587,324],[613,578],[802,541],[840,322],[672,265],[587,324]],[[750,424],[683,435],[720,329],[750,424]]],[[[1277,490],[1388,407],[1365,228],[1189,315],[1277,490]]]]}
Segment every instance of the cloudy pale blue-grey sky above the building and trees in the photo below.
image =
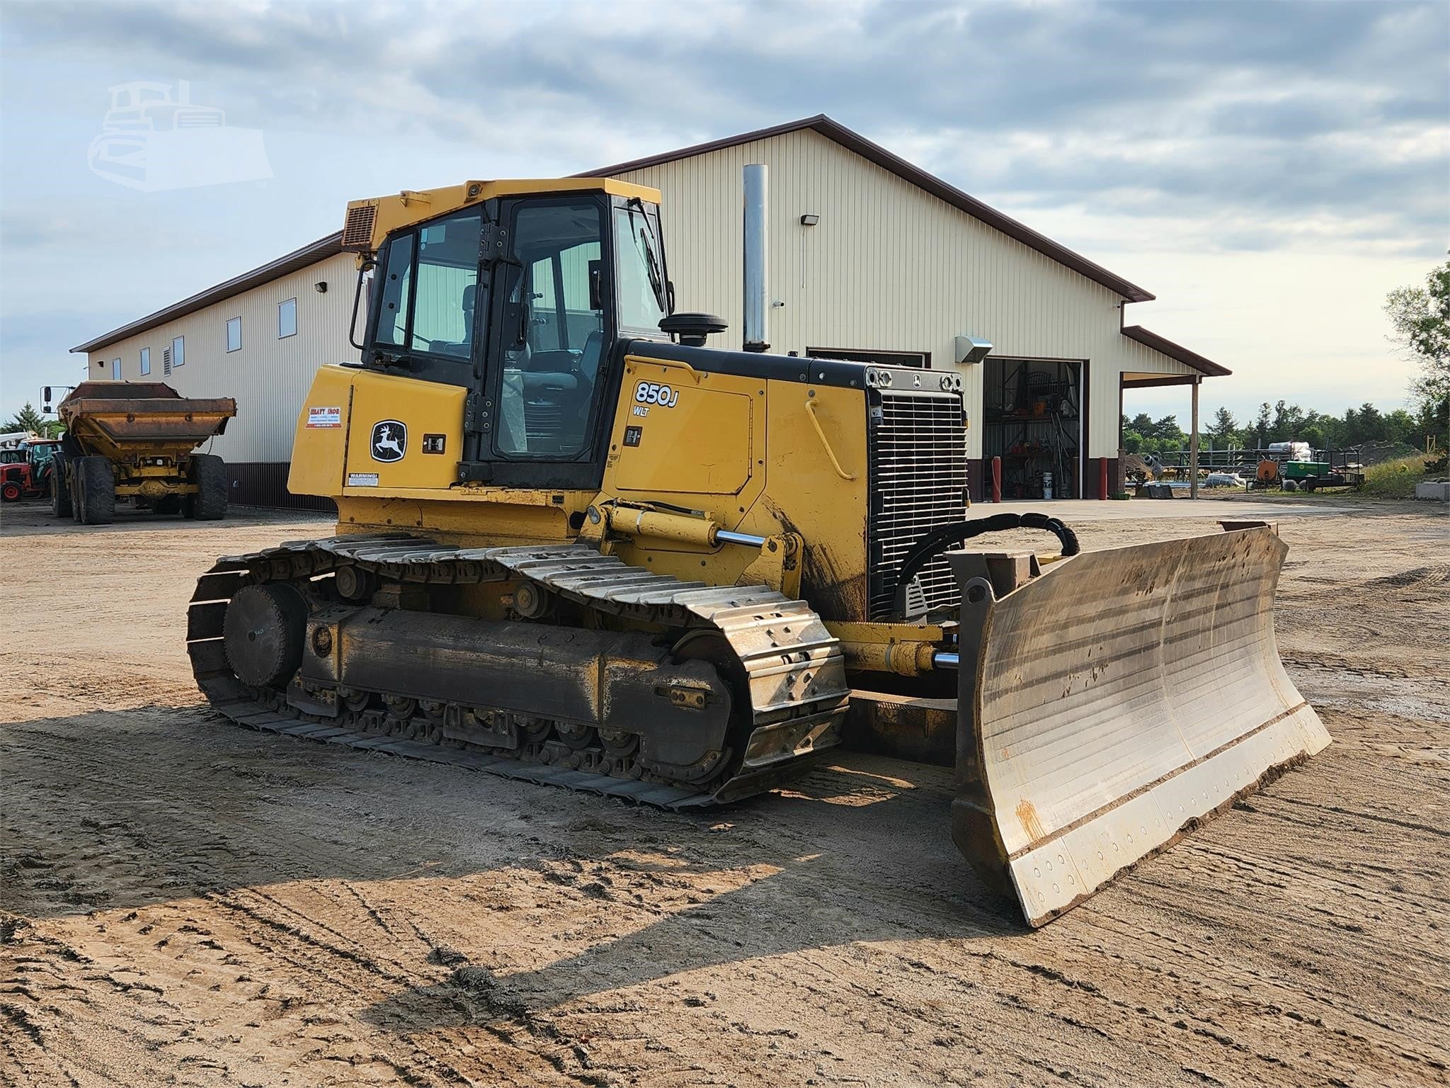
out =
{"type": "MultiPolygon", "coordinates": [[[[1388,290],[1450,239],[1450,4],[0,4],[0,411],[67,350],[341,225],[828,113],[1159,296],[1206,408],[1405,396],[1388,290]],[[93,174],[109,87],[187,80],[273,177],[93,174]]],[[[1179,390],[1131,411],[1183,411],[1179,390]]]]}

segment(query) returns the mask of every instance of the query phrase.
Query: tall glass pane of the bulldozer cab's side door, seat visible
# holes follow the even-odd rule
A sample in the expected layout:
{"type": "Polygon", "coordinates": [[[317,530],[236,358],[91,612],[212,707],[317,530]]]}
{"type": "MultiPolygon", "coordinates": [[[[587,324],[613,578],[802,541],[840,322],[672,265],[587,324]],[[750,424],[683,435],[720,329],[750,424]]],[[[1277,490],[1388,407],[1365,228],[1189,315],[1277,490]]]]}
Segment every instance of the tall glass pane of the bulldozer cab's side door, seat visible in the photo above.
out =
{"type": "Polygon", "coordinates": [[[600,209],[529,203],[513,226],[518,264],[505,265],[496,451],[571,460],[592,435],[605,348],[600,209]]]}

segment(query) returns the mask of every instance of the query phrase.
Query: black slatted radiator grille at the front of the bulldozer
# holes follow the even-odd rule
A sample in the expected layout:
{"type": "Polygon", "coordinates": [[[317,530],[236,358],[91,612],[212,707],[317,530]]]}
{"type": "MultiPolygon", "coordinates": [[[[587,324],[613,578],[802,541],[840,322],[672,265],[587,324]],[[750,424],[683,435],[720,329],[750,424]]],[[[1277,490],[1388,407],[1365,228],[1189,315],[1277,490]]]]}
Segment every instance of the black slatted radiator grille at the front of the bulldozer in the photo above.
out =
{"type": "MultiPolygon", "coordinates": [[[[896,570],[927,532],[966,516],[967,432],[954,393],[879,393],[870,408],[870,618],[884,619],[896,570]]],[[[956,608],[956,580],[942,557],[918,574],[928,611],[956,608]]]]}

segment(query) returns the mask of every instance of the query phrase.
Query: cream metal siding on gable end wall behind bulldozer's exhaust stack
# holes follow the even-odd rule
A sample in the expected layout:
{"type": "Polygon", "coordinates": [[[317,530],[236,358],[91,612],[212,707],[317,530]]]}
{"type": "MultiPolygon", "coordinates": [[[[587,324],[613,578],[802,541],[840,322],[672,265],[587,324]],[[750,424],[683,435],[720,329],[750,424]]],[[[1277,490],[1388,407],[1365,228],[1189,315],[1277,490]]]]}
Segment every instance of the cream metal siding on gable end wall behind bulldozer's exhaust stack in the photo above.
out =
{"type": "MultiPolygon", "coordinates": [[[[1089,457],[1115,457],[1124,370],[1192,374],[1121,334],[1119,296],[809,129],[621,174],[657,187],[682,310],[741,342],[741,168],[770,167],[771,351],[929,351],[953,366],[958,335],[995,354],[1089,361],[1089,457]],[[803,226],[800,216],[821,216],[803,226]]],[[[982,367],[963,367],[982,457],[982,367]]]]}

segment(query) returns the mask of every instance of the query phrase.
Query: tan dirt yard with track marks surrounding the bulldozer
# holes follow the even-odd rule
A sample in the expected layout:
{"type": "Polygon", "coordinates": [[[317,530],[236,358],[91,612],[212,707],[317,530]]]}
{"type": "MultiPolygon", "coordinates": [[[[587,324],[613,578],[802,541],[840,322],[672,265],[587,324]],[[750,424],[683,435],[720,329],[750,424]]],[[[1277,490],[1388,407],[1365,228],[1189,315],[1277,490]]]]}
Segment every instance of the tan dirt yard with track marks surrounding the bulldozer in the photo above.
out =
{"type": "Polygon", "coordinates": [[[1450,1082],[1443,509],[1280,522],[1334,744],[1038,931],[947,772],[676,815],[223,724],[193,579],[328,524],[0,516],[3,1084],[1450,1082]]]}

